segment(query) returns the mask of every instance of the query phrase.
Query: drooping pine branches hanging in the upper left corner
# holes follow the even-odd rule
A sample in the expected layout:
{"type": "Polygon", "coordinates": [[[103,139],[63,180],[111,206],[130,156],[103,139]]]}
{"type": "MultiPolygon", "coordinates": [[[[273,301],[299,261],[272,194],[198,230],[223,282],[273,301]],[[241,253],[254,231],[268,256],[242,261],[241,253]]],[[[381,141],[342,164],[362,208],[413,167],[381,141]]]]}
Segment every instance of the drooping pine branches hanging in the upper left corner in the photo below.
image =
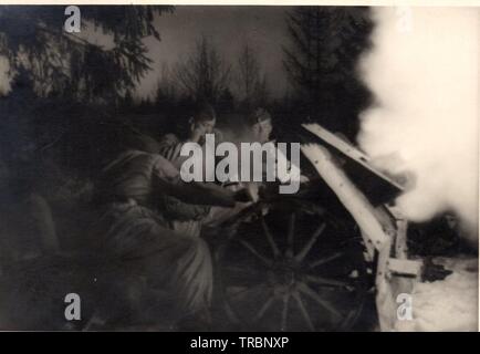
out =
{"type": "Polygon", "coordinates": [[[83,102],[118,102],[150,69],[142,39],[159,38],[155,14],[170,7],[80,7],[82,28],[93,25],[113,41],[103,48],[64,31],[64,7],[0,8],[0,55],[12,72],[24,70],[41,96],[63,95],[83,102]]]}

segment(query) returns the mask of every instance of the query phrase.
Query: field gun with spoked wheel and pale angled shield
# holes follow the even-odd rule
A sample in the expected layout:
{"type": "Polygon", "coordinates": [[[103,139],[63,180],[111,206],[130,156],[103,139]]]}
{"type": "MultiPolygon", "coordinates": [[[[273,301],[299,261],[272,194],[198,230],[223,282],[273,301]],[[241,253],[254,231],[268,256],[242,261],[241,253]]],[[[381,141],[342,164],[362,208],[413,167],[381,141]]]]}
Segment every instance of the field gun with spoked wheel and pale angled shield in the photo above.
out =
{"type": "Polygon", "coordinates": [[[390,331],[421,271],[407,257],[407,221],[389,205],[403,187],[338,136],[303,128],[317,179],[237,216],[258,218],[230,228],[216,251],[223,309],[240,330],[345,331],[375,291],[380,330],[390,331]]]}

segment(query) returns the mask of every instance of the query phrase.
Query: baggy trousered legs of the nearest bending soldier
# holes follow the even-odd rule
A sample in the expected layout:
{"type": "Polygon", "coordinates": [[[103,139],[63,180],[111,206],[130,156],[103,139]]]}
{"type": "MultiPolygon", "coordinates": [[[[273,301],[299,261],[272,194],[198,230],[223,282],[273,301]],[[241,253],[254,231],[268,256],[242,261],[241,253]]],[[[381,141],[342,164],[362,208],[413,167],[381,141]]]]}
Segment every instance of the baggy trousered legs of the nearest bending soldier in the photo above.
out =
{"type": "Polygon", "coordinates": [[[114,220],[105,220],[106,248],[116,259],[111,264],[115,271],[146,278],[148,287],[166,294],[159,302],[168,303],[178,316],[209,305],[212,268],[202,239],[174,232],[135,206],[122,206],[114,220]]]}

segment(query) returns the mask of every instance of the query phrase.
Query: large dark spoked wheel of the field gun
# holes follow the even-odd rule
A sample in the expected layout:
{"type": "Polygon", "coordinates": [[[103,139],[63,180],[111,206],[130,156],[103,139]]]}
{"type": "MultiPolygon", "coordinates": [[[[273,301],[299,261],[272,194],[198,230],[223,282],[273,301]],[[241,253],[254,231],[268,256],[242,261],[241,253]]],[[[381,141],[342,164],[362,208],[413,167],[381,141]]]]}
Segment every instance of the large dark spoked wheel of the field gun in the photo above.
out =
{"type": "Polygon", "coordinates": [[[369,275],[361,238],[346,223],[289,201],[241,226],[217,253],[230,321],[249,331],[351,329],[369,275]]]}

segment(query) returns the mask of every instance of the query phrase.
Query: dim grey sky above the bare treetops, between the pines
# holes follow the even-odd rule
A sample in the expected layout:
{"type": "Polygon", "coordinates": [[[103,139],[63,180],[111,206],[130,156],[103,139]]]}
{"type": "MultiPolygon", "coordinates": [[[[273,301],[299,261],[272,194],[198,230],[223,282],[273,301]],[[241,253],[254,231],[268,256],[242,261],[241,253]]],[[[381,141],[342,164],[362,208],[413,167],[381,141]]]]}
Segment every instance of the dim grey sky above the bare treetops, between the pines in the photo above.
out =
{"type": "MultiPolygon", "coordinates": [[[[283,95],[288,87],[282,65],[282,45],[288,44],[285,11],[289,7],[177,7],[173,14],[156,20],[161,42],[146,39],[149,56],[155,61],[153,71],[139,84],[138,93],[146,96],[155,90],[163,63],[175,66],[188,56],[201,35],[207,35],[221,55],[236,64],[244,43],[257,52],[267,72],[274,96],[283,95]]],[[[234,85],[232,82],[232,87],[234,85]]]]}

